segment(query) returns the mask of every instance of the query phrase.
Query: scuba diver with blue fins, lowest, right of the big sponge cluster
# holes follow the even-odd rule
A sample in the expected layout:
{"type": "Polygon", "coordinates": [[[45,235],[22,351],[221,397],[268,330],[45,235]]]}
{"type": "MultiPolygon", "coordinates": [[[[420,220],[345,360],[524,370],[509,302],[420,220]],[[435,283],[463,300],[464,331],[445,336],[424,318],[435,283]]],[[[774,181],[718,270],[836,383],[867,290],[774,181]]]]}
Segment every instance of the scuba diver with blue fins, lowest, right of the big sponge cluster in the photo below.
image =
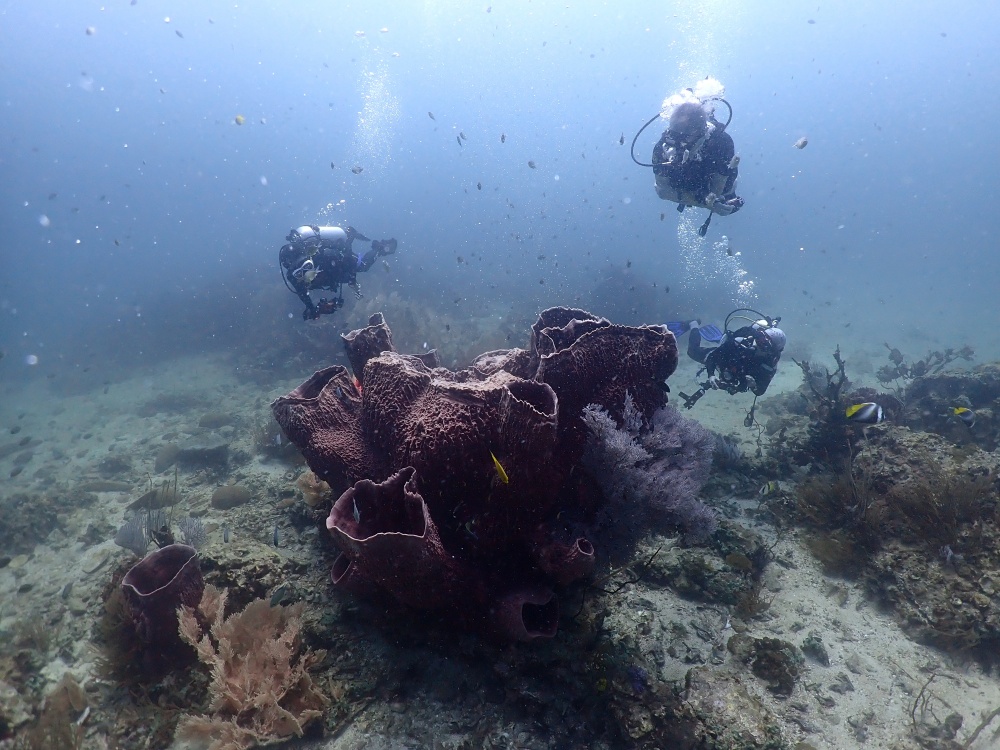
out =
{"type": "MultiPolygon", "coordinates": [[[[753,411],[757,396],[763,396],[778,369],[778,360],[785,348],[785,332],[778,328],[781,318],[769,318],[756,310],[738,308],[726,316],[725,329],[690,323],[668,323],[670,330],[683,333],[690,330],[688,356],[705,365],[708,379],[692,395],[681,393],[684,406],[693,407],[709,390],[724,390],[730,394],[750,391],[754,394],[747,421],[753,424],[753,411]],[[754,317],[749,317],[752,313],[754,317]],[[732,328],[733,321],[745,320],[747,325],[732,328]],[[708,334],[707,336],[703,334],[708,334]],[[717,335],[713,335],[717,334],[717,335]],[[703,347],[702,339],[720,341],[718,346],[703,347]]],[[[702,370],[698,371],[699,374],[702,370]]]]}

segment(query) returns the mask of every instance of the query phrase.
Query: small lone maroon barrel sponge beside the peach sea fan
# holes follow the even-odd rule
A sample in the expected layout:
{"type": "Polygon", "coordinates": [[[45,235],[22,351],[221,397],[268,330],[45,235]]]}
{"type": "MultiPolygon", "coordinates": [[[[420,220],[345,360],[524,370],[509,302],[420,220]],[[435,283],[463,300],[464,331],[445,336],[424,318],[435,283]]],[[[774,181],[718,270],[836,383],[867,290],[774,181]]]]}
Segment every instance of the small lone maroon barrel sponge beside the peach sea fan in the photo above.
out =
{"type": "Polygon", "coordinates": [[[198,552],[186,544],[150,552],[129,569],[121,588],[139,638],[150,645],[180,642],[177,608],[196,607],[205,590],[198,552]]]}

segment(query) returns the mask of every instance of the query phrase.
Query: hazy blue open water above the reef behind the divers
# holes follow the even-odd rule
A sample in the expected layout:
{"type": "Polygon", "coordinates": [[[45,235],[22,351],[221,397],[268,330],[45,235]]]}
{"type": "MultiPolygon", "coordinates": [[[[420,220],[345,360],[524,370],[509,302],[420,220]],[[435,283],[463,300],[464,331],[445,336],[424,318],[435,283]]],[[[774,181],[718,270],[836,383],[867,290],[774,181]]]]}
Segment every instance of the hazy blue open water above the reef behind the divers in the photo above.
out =
{"type": "Polygon", "coordinates": [[[398,238],[366,295],[452,316],[752,302],[791,351],[995,358],[1000,13],[903,7],[10,0],[0,374],[291,335],[307,324],[276,254],[314,222],[398,238]],[[628,147],[707,75],[746,206],[699,244],[703,217],[679,230],[628,147]]]}

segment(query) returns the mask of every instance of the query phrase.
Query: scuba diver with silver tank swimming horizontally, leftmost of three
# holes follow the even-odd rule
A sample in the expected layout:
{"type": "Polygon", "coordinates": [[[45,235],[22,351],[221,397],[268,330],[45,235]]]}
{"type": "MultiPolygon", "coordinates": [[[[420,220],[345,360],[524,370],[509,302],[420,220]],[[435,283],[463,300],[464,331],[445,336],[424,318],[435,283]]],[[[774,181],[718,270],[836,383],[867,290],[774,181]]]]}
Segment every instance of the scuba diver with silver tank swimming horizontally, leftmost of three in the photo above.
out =
{"type": "Polygon", "coordinates": [[[285,240],[288,244],[278,252],[281,278],[305,304],[303,320],[315,320],[343,307],[344,284],[354,289],[355,296],[360,299],[358,271],[367,271],[381,256],[396,252],[396,240],[369,240],[354,227],[306,225],[293,229],[285,240]],[[358,256],[351,249],[356,239],[371,242],[371,250],[358,256]],[[329,300],[323,297],[316,304],[309,296],[311,289],[329,289],[337,296],[329,300]]]}

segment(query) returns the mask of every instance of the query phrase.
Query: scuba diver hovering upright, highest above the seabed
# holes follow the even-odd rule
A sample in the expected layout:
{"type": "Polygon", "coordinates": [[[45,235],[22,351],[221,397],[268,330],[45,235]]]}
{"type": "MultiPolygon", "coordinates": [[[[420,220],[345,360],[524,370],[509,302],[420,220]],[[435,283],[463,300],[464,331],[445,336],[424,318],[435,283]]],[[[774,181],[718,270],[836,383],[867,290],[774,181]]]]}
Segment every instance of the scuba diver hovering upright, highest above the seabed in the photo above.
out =
{"type": "Polygon", "coordinates": [[[660,113],[649,120],[632,140],[632,160],[642,167],[652,167],[656,194],[677,203],[677,210],[691,206],[708,209],[708,218],[698,229],[708,232],[713,214],[729,216],[743,207],[736,195],[740,158],[726,128],[733,119],[733,108],[722,98],[725,89],[714,78],[699,81],[693,89],[684,89],[663,102],[660,113]],[[729,108],[725,123],[715,119],[715,102],[729,108]],[[639,135],[658,117],[668,120],[667,129],[653,147],[650,164],[635,158],[639,135]]]}

